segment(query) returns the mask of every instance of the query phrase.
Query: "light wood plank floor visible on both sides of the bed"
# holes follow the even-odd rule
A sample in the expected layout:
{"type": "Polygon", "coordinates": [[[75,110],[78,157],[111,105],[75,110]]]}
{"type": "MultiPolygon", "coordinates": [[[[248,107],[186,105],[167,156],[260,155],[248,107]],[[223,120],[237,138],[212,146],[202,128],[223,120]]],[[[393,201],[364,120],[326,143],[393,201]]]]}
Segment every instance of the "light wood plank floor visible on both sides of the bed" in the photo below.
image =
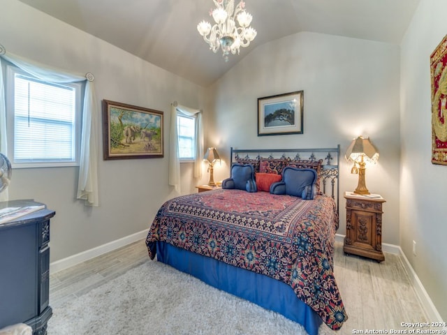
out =
{"type": "MultiPolygon", "coordinates": [[[[51,274],[50,305],[60,306],[148,261],[142,240],[51,274]]],[[[336,242],[334,263],[349,320],[339,332],[323,326],[321,334],[367,334],[367,329],[405,329],[401,322],[428,321],[399,256],[386,253],[381,263],[346,256],[336,242]]]]}

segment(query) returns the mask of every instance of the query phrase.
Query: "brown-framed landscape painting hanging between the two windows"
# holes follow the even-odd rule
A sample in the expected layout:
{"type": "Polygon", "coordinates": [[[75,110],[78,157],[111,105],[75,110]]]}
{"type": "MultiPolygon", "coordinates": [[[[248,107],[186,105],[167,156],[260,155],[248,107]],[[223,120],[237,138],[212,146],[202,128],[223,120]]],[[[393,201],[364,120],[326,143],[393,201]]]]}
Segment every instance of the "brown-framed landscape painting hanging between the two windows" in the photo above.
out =
{"type": "Polygon", "coordinates": [[[163,112],[103,100],[104,159],[163,157],[163,112]]]}

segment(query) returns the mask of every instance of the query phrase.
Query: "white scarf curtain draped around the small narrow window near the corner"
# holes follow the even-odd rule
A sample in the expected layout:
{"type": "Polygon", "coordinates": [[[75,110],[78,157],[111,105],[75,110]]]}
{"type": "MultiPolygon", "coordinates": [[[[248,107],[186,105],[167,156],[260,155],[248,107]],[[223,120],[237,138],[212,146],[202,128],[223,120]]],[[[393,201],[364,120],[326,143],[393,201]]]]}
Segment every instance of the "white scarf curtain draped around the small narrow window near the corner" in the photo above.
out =
{"type": "Polygon", "coordinates": [[[203,161],[203,126],[202,112],[179,105],[175,101],[171,105],[170,113],[170,140],[169,140],[169,185],[181,194],[179,137],[177,134],[177,114],[187,117],[196,117],[196,160],[194,162],[194,178],[202,177],[203,161]]]}

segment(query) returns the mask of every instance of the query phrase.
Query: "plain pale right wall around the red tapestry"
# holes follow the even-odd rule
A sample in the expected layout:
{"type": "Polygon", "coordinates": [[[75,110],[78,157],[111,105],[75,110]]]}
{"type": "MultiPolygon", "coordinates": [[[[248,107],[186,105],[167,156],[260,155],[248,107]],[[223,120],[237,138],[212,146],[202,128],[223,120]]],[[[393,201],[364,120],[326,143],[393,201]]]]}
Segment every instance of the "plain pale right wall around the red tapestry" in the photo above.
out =
{"type": "Polygon", "coordinates": [[[444,320],[447,166],[431,163],[430,54],[447,33],[446,13],[444,0],[420,1],[402,41],[400,177],[400,246],[444,320]]]}

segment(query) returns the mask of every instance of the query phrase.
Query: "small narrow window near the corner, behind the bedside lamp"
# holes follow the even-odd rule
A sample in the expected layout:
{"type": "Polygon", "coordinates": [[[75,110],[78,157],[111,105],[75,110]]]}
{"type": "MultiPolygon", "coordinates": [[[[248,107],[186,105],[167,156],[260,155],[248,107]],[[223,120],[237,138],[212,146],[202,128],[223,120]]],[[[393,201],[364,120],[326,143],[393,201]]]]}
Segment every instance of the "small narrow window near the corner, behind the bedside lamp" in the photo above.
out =
{"type": "Polygon", "coordinates": [[[179,115],[177,112],[177,135],[179,137],[180,161],[196,159],[196,117],[179,115]]]}

